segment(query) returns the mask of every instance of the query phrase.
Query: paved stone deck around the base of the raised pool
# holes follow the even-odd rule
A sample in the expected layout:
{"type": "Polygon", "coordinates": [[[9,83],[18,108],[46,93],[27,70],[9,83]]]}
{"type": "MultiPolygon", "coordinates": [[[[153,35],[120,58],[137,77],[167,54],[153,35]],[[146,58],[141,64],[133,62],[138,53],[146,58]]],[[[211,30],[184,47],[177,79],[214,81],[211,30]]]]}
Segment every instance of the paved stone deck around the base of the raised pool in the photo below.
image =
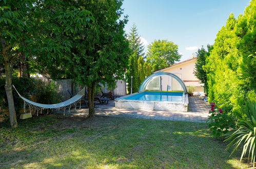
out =
{"type": "MultiPolygon", "coordinates": [[[[172,111],[142,111],[134,109],[117,109],[114,101],[108,104],[97,104],[95,106],[95,114],[97,116],[110,117],[128,117],[128,118],[144,118],[156,120],[173,120],[173,121],[190,121],[190,122],[206,122],[210,105],[201,98],[193,96],[189,97],[188,112],[172,112],[172,111]]],[[[87,113],[88,109],[77,109],[78,114],[87,113]]],[[[71,111],[70,113],[74,113],[71,111]]]]}

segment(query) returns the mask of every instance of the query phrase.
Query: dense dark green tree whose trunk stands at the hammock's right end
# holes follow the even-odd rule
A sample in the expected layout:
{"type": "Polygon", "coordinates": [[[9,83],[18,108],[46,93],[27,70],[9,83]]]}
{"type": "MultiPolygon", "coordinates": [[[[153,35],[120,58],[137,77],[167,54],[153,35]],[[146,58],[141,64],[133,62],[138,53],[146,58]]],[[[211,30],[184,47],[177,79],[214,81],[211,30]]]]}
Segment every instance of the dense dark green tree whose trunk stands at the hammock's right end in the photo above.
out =
{"type": "Polygon", "coordinates": [[[97,83],[107,82],[109,86],[114,86],[116,79],[124,78],[128,65],[129,44],[124,31],[127,17],[122,17],[122,2],[65,2],[67,6],[89,10],[95,20],[90,27],[81,28],[75,36],[67,35],[68,39],[72,38],[70,53],[62,55],[55,67],[80,85],[87,86],[89,117],[94,116],[93,100],[97,83]]]}

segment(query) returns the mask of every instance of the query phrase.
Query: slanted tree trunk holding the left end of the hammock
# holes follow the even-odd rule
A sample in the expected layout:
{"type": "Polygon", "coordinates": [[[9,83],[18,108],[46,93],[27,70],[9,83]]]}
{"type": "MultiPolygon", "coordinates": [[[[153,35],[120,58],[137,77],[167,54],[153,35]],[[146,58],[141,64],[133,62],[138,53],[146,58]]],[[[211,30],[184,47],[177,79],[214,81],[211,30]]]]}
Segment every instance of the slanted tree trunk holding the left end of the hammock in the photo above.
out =
{"type": "Polygon", "coordinates": [[[5,84],[5,91],[8,100],[8,110],[9,110],[9,117],[11,126],[16,128],[18,126],[17,119],[16,119],[16,112],[14,108],[14,101],[12,95],[12,61],[10,60],[7,50],[8,47],[6,46],[6,41],[2,37],[1,44],[2,44],[2,55],[5,61],[5,75],[6,75],[6,84],[5,84]]]}

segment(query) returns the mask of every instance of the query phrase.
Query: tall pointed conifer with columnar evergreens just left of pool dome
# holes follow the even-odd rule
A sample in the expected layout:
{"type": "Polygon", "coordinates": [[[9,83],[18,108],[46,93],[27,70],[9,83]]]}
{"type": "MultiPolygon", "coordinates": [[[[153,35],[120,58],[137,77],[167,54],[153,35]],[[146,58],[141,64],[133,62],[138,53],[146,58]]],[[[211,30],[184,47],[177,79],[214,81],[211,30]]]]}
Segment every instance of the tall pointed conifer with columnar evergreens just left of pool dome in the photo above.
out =
{"type": "Polygon", "coordinates": [[[137,28],[132,26],[131,32],[128,35],[129,47],[131,54],[129,56],[128,67],[126,72],[126,80],[128,82],[128,92],[131,93],[131,76],[132,76],[132,92],[135,93],[139,90],[139,87],[145,77],[151,75],[151,67],[148,62],[143,59],[144,46],[141,43],[137,28]]]}

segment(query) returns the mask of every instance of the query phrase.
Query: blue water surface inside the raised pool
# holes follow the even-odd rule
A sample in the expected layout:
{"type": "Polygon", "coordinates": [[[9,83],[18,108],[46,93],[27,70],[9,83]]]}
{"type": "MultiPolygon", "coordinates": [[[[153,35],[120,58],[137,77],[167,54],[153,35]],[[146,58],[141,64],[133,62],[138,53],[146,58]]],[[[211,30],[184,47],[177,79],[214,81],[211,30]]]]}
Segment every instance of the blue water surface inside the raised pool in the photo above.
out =
{"type": "Polygon", "coordinates": [[[183,92],[142,92],[126,97],[126,100],[173,101],[181,102],[183,92]]]}

